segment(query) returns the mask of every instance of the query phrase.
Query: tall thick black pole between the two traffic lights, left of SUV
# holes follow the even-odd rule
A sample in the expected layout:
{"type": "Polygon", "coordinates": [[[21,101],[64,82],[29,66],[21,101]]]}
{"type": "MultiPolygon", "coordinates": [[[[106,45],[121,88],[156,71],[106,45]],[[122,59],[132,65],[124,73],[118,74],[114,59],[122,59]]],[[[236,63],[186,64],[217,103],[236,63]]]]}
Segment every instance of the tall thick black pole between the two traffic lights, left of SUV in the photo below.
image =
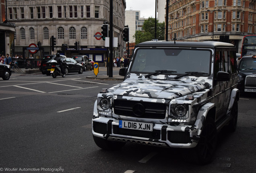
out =
{"type": "Polygon", "coordinates": [[[113,1],[111,0],[109,8],[109,77],[113,77],[113,1]]]}

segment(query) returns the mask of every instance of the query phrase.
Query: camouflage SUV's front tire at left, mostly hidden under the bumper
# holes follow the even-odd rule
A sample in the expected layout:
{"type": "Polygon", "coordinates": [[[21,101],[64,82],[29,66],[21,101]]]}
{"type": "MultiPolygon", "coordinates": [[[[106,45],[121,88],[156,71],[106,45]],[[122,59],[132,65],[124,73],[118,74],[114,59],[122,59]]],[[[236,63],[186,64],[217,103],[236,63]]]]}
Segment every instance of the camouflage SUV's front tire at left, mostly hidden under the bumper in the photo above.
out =
{"type": "Polygon", "coordinates": [[[93,140],[98,147],[105,150],[119,150],[126,144],[123,142],[107,141],[106,139],[102,139],[95,136],[93,136],[93,140]]]}

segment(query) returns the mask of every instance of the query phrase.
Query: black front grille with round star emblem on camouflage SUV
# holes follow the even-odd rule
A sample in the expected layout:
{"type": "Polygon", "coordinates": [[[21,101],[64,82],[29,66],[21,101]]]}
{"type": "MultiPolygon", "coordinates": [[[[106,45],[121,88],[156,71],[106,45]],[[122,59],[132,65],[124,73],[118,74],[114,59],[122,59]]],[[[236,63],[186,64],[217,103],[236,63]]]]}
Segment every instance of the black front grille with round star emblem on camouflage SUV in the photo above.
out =
{"type": "Polygon", "coordinates": [[[127,117],[165,119],[166,104],[144,101],[114,100],[114,113],[127,117]]]}

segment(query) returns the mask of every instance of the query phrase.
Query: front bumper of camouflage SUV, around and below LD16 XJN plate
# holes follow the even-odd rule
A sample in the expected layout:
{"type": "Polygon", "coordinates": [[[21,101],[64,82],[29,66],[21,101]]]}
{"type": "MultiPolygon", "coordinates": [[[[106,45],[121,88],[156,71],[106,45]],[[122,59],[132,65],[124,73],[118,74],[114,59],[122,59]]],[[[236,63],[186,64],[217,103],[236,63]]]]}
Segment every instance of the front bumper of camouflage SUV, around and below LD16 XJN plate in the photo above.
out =
{"type": "Polygon", "coordinates": [[[199,137],[198,128],[190,125],[154,124],[153,131],[119,128],[119,120],[94,117],[92,131],[96,137],[109,141],[133,142],[159,147],[193,148],[199,137]]]}

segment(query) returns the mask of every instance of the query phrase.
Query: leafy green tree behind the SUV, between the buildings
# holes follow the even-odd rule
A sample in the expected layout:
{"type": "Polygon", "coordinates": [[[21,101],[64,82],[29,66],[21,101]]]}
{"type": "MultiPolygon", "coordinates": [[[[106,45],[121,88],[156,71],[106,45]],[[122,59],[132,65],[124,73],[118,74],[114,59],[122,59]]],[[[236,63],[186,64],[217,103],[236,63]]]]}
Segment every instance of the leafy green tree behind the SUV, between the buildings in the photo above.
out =
{"type": "MultiPolygon", "coordinates": [[[[151,41],[155,39],[155,18],[148,18],[144,21],[142,26],[143,31],[136,31],[133,38],[135,38],[135,43],[141,43],[145,41],[151,41]]],[[[157,39],[165,39],[165,22],[159,23],[157,20],[157,39]]]]}

